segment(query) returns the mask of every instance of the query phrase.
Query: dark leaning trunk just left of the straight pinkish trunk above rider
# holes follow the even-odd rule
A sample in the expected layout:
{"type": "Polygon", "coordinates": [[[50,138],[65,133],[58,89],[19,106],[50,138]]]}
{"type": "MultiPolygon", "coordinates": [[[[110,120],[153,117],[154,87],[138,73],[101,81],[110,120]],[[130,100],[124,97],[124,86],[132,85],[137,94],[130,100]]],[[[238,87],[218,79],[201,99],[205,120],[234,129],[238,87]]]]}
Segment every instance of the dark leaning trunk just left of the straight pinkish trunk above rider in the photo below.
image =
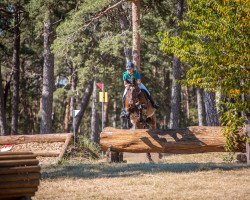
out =
{"type": "Polygon", "coordinates": [[[120,22],[120,27],[122,31],[122,43],[123,43],[123,49],[124,49],[124,55],[126,58],[126,61],[128,62],[131,60],[131,49],[129,48],[129,44],[127,41],[128,35],[126,34],[126,31],[129,29],[129,21],[127,19],[128,13],[126,10],[123,8],[124,5],[120,5],[118,7],[118,12],[119,12],[119,22],[120,22]]]}

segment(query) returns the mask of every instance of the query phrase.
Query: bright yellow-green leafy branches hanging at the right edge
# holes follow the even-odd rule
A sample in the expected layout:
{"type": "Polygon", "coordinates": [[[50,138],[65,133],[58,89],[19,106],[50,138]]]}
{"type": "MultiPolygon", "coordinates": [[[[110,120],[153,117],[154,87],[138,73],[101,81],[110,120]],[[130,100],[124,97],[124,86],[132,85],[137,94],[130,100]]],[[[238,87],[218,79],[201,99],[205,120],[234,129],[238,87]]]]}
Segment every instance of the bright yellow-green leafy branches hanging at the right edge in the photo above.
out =
{"type": "Polygon", "coordinates": [[[226,97],[227,110],[221,120],[227,126],[226,149],[230,151],[242,141],[236,134],[243,124],[238,113],[250,107],[241,98],[250,91],[249,5],[247,0],[188,0],[184,20],[178,22],[179,34],[159,34],[161,49],[190,66],[183,82],[220,90],[226,97]]]}

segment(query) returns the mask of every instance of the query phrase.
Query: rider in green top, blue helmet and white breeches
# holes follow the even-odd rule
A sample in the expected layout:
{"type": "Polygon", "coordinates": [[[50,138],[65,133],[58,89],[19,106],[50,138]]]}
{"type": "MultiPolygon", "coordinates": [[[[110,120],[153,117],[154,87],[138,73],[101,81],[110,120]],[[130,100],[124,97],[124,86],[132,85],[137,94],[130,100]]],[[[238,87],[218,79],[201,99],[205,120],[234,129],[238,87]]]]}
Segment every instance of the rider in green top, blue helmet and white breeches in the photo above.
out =
{"type": "Polygon", "coordinates": [[[124,82],[124,86],[125,86],[125,90],[124,90],[123,97],[122,97],[123,108],[125,107],[125,96],[126,96],[127,90],[130,87],[130,84],[132,83],[131,82],[131,76],[133,75],[135,80],[137,81],[138,87],[141,90],[145,91],[145,93],[146,93],[148,99],[150,100],[152,106],[154,108],[158,109],[159,105],[154,102],[152,96],[150,95],[150,92],[145,87],[145,85],[143,85],[142,82],[141,82],[141,74],[139,74],[134,68],[135,68],[134,64],[131,61],[128,61],[127,64],[126,64],[126,70],[127,71],[125,71],[123,73],[123,82],[124,82]]]}

